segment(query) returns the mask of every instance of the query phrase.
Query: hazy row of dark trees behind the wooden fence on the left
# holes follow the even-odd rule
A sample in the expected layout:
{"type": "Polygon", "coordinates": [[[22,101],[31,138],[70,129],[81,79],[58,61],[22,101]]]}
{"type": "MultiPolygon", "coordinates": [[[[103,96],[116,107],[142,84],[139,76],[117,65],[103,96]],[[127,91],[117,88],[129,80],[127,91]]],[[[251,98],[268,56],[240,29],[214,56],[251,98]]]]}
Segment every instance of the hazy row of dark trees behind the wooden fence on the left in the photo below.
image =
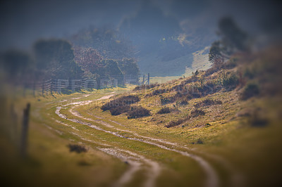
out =
{"type": "Polygon", "coordinates": [[[1,70],[9,82],[44,79],[97,79],[139,75],[130,41],[116,30],[89,27],[67,39],[39,39],[30,51],[1,53],[1,70]]]}

